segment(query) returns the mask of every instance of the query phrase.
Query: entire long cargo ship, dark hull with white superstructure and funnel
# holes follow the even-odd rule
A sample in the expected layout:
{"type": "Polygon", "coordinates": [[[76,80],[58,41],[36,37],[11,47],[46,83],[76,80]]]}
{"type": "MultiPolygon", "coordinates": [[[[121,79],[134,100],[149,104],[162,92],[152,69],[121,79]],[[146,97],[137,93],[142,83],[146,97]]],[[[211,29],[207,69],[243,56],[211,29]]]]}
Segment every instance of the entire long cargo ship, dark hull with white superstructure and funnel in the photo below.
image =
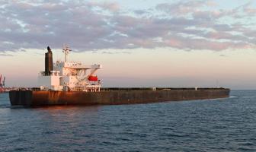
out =
{"type": "Polygon", "coordinates": [[[229,97],[228,88],[102,87],[96,71],[102,65],[69,62],[69,46],[63,46],[64,61],[53,64],[53,52],[47,47],[45,69],[38,74],[38,86],[29,90],[11,90],[12,106],[118,105],[181,100],[207,100],[229,97]]]}

